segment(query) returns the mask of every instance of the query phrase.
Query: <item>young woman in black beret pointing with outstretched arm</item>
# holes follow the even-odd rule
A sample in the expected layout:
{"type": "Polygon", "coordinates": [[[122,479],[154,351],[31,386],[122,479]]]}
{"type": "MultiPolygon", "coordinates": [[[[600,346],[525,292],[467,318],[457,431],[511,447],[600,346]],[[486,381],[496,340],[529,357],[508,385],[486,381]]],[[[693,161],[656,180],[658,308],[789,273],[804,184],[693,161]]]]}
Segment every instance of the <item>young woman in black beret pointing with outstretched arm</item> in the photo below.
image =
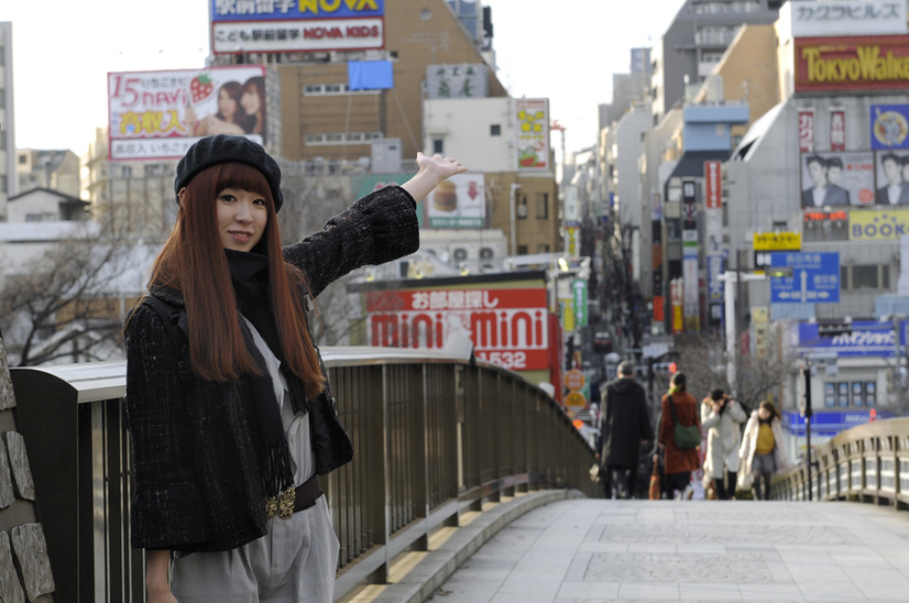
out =
{"type": "Polygon", "coordinates": [[[180,160],[176,224],[124,328],[132,544],[147,552],[150,602],[332,600],[338,539],[316,475],[352,449],[305,308],[351,270],[419,246],[416,201],[466,168],[417,163],[282,249],[281,171],[262,146],[208,136],[180,160]]]}

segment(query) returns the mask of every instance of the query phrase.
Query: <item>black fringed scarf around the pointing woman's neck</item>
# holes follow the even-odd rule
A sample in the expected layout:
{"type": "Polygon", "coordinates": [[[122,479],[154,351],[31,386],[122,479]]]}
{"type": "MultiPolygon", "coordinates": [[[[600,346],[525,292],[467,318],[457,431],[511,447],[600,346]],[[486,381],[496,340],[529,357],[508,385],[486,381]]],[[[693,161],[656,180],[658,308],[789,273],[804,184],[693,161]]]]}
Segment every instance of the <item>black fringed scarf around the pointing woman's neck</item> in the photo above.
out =
{"type": "MultiPolygon", "coordinates": [[[[303,381],[284,362],[284,351],[281,347],[281,337],[269,295],[269,257],[260,253],[224,251],[240,314],[255,327],[269,349],[281,361],[281,372],[287,381],[294,413],[309,412],[309,402],[306,398],[303,381]]],[[[247,348],[255,352],[252,335],[245,327],[242,330],[247,348]]],[[[253,355],[255,358],[259,354],[253,355]]],[[[243,397],[252,423],[250,431],[259,457],[265,493],[273,496],[295,485],[294,474],[291,450],[284,437],[281,407],[275,398],[274,385],[264,364],[259,369],[260,375],[243,375],[241,386],[244,390],[243,397]]]]}

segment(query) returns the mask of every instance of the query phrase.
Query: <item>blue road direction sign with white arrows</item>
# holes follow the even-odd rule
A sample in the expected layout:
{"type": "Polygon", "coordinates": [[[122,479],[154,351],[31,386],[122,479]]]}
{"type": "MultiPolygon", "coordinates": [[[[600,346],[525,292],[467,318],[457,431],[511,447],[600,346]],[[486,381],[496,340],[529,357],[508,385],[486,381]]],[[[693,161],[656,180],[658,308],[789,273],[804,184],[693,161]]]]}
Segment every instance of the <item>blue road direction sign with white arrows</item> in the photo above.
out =
{"type": "Polygon", "coordinates": [[[789,304],[837,304],[840,302],[840,252],[778,251],[770,267],[792,268],[792,276],[770,278],[770,302],[789,304]]]}

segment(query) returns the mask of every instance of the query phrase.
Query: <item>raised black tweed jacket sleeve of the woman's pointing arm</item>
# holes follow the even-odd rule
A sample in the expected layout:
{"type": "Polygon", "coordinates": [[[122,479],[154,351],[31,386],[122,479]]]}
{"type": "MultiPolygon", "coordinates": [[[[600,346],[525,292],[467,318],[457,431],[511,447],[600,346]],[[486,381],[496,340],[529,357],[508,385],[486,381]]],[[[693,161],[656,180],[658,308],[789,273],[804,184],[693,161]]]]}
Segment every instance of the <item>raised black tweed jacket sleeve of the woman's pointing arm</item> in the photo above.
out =
{"type": "Polygon", "coordinates": [[[419,224],[413,197],[399,186],[370,193],[325,228],[284,248],[284,259],[303,271],[313,296],[364,265],[414,253],[419,224]]]}

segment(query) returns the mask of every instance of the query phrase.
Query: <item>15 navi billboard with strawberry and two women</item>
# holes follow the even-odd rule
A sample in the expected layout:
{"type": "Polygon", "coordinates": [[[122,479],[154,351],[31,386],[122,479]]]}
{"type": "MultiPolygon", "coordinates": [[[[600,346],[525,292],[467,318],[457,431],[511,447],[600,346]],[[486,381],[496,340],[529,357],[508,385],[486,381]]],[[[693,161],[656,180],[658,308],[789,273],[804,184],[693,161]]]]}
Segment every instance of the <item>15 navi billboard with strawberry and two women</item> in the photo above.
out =
{"type": "Polygon", "coordinates": [[[111,160],[179,158],[200,136],[265,144],[265,67],[108,74],[111,160]]]}

